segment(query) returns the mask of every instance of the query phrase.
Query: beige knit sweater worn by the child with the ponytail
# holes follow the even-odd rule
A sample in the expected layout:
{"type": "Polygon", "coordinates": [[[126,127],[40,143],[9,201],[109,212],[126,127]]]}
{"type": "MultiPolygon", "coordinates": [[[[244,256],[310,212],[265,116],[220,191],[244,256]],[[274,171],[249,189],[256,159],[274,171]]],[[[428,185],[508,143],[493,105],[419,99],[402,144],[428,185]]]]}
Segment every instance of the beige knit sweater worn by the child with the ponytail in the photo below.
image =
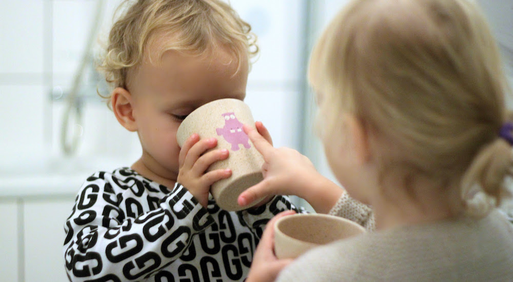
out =
{"type": "MultiPolygon", "coordinates": [[[[372,230],[367,206],[342,197],[331,211],[372,230]]],[[[279,275],[279,282],[513,281],[513,227],[493,211],[401,227],[310,250],[279,275]]]]}

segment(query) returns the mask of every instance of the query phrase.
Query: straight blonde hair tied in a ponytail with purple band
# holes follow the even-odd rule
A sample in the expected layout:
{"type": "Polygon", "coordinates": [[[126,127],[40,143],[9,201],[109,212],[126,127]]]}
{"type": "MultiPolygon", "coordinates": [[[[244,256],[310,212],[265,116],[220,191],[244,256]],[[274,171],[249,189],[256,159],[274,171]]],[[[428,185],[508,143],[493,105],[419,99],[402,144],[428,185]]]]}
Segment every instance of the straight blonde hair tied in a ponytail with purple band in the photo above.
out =
{"type": "Polygon", "coordinates": [[[499,204],[513,166],[511,146],[498,135],[507,80],[475,4],[353,1],[315,46],[309,78],[328,114],[323,132],[341,130],[341,113],[354,114],[382,175],[394,167],[445,185],[456,179],[473,214],[499,204]],[[476,186],[486,194],[478,209],[467,200],[476,186]]]}

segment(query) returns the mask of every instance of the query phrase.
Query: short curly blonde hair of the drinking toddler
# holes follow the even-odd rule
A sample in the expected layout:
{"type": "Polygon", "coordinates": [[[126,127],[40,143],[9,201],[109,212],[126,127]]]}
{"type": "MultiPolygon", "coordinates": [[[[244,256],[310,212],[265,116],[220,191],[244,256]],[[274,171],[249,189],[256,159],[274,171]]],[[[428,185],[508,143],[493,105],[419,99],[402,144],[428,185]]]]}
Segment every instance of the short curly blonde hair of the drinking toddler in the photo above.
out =
{"type": "Polygon", "coordinates": [[[123,12],[110,30],[105,52],[97,67],[113,88],[127,88],[128,70],[142,63],[145,48],[157,39],[155,37],[167,39],[159,59],[168,50],[201,55],[221,45],[231,51],[239,71],[244,60],[258,53],[257,36],[251,32],[251,26],[223,1],[132,2],[124,1],[117,9],[123,12]]]}

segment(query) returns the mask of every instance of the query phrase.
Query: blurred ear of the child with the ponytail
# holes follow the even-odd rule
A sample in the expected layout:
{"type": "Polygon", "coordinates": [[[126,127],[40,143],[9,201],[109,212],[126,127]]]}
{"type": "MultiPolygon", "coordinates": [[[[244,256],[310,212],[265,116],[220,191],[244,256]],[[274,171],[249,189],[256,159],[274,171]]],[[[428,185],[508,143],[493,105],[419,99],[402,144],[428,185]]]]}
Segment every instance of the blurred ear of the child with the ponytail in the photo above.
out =
{"type": "Polygon", "coordinates": [[[371,158],[366,128],[362,121],[352,114],[345,116],[345,123],[349,131],[349,142],[353,149],[355,160],[359,165],[363,165],[371,158]]]}

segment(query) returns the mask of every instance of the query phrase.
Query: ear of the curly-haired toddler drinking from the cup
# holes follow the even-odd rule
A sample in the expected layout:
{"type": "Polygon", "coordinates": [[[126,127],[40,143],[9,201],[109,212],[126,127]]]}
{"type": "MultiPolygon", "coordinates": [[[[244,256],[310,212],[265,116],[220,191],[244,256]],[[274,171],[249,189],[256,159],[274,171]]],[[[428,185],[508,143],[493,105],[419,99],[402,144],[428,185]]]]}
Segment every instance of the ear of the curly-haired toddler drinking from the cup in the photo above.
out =
{"type": "Polygon", "coordinates": [[[125,88],[116,87],[112,90],[110,103],[117,121],[127,130],[136,131],[137,125],[133,116],[132,95],[130,92],[125,88]]]}

